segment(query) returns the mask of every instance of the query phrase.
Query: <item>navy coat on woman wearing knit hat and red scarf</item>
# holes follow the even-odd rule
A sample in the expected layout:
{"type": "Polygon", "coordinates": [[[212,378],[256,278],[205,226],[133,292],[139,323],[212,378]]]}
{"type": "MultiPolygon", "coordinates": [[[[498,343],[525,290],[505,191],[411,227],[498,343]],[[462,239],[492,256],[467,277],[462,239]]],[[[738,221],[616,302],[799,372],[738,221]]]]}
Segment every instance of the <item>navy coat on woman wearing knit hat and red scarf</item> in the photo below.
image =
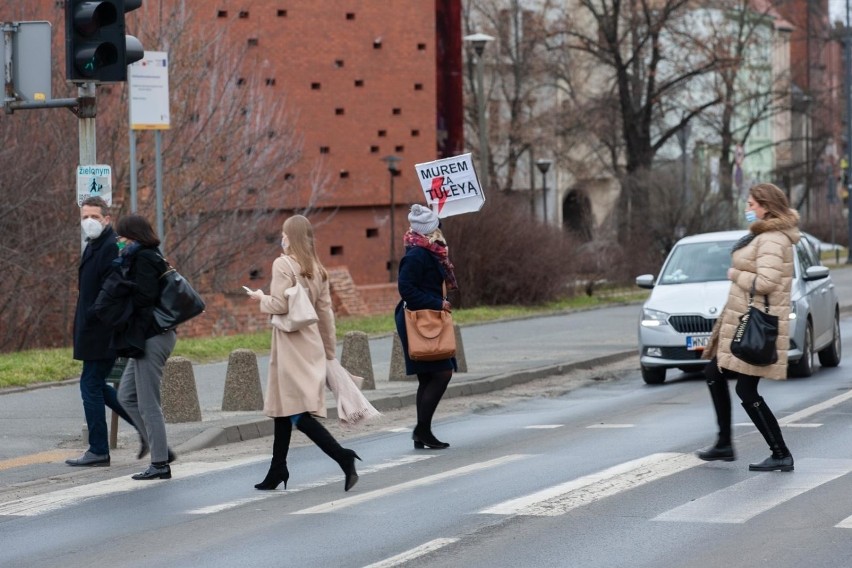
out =
{"type": "Polygon", "coordinates": [[[455,371],[456,358],[440,361],[412,361],[408,357],[408,335],[405,332],[405,310],[440,310],[443,297],[444,270],[431,252],[423,247],[412,247],[405,251],[399,262],[397,288],[402,300],[394,312],[396,331],[402,342],[402,354],[405,357],[405,372],[408,375],[418,373],[436,373],[455,371]]]}

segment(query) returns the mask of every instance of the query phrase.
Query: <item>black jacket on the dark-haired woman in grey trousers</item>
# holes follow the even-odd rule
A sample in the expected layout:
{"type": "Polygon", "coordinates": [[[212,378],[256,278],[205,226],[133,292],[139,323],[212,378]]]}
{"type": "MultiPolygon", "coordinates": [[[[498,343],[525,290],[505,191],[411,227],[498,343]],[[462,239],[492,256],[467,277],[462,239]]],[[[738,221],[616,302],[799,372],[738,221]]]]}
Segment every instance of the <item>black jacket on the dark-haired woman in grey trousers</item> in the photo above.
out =
{"type": "Polygon", "coordinates": [[[125,278],[135,284],[133,313],[127,325],[116,329],[112,346],[122,357],[141,359],[145,356],[145,340],[161,330],[154,324],[154,307],[160,299],[160,276],[168,269],[157,247],[142,247],[126,259],[121,268],[125,278]]]}

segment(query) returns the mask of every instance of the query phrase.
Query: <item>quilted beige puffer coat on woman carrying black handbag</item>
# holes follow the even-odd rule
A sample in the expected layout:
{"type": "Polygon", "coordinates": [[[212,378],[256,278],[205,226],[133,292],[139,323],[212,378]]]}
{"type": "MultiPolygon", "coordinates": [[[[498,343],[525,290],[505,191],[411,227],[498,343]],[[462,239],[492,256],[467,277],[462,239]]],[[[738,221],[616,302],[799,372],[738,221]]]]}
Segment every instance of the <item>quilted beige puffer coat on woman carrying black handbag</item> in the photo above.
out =
{"type": "Polygon", "coordinates": [[[716,356],[721,369],[752,377],[787,378],[787,350],[790,347],[790,291],[793,283],[793,245],[799,242],[796,228],[798,215],[791,210],[789,218],[772,218],[751,226],[754,239],[734,251],[731,266],[734,278],[728,302],[713,329],[708,349],[703,357],[716,356]],[[742,316],[748,311],[752,282],[755,285],[754,304],[761,310],[764,296],[769,298],[769,313],[778,316],[778,361],[772,365],[749,365],[731,353],[731,340],[742,316]]]}

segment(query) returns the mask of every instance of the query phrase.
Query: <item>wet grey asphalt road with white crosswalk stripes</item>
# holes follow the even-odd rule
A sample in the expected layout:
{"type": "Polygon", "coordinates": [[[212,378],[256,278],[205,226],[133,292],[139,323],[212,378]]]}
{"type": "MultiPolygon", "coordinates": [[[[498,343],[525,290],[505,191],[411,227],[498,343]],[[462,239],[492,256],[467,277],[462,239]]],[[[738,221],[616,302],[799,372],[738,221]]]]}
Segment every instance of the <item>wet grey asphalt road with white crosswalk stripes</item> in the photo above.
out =
{"type": "MultiPolygon", "coordinates": [[[[852,320],[842,330],[850,353],[852,320]]],[[[849,564],[848,365],[761,384],[793,473],[747,470],[768,450],[736,405],[739,459],[695,459],[715,435],[700,375],[649,387],[635,367],[447,401],[446,451],[413,450],[410,414],[392,413],[346,441],[364,458],[349,493],[309,445],[291,450],[286,491],[254,490],[267,439],[200,452],[171,481],[97,472],[3,494],[0,566],[849,564]]]]}

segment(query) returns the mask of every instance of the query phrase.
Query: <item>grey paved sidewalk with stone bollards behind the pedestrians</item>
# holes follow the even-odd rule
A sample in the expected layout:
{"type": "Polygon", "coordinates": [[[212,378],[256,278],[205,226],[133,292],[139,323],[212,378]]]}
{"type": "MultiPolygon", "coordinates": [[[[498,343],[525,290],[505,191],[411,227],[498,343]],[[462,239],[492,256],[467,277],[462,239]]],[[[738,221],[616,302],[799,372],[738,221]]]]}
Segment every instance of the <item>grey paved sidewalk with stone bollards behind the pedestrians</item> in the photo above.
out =
{"type": "MultiPolygon", "coordinates": [[[[841,310],[852,311],[852,270],[832,270],[832,278],[841,310]]],[[[465,326],[462,341],[469,372],[453,376],[446,397],[489,392],[636,357],[638,312],[639,305],[633,304],[465,326]]],[[[370,340],[376,389],[364,394],[379,410],[412,406],[417,389],[416,380],[388,381],[391,346],[390,337],[370,340]]],[[[265,388],[268,357],[259,356],[258,366],[265,388]]],[[[176,451],[271,434],[272,422],[260,411],[221,410],[226,370],[226,362],[194,366],[202,421],[167,425],[176,451]]],[[[85,449],[81,437],[85,421],[76,381],[0,394],[0,462],[57,448],[85,449]]],[[[330,394],[327,401],[333,411],[330,394]]],[[[136,444],[135,432],[122,424],[119,447],[134,448],[136,444]]]]}

